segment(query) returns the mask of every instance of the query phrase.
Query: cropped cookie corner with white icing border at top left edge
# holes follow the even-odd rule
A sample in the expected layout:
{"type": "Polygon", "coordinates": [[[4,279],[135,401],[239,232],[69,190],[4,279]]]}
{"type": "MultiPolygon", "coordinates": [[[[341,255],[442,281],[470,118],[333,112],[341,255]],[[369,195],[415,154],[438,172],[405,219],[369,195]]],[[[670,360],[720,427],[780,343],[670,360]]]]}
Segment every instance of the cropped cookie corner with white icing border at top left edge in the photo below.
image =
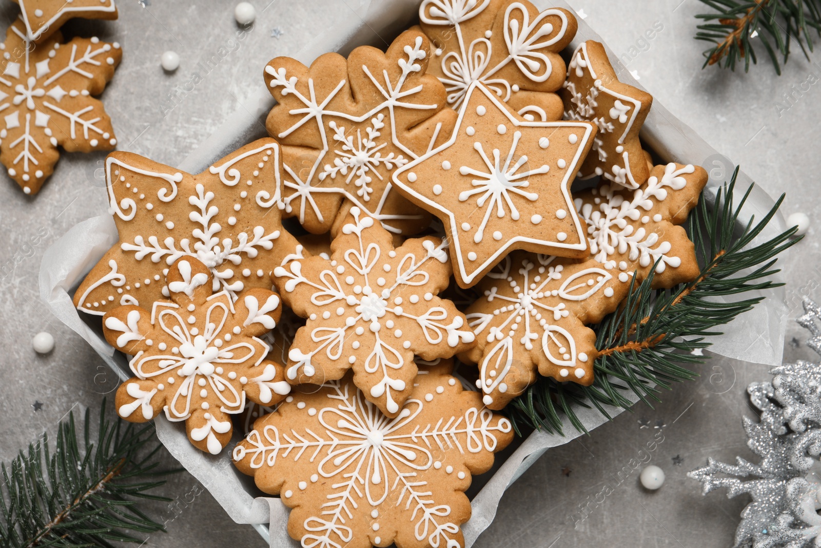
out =
{"type": "Polygon", "coordinates": [[[25,35],[40,44],[72,17],[117,19],[114,0],[13,0],[20,4],[25,35]]]}

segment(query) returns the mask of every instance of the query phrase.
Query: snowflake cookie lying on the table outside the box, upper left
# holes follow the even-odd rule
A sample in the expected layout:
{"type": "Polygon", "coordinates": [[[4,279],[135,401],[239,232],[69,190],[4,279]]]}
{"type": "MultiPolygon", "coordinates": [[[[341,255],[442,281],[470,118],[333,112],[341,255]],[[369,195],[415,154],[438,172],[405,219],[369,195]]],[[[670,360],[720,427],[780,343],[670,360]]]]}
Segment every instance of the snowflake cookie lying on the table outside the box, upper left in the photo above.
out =
{"type": "Polygon", "coordinates": [[[111,118],[91,95],[103,93],[122,58],[120,44],[57,33],[34,44],[21,21],[0,44],[0,162],[26,194],[35,194],[60,154],[111,150],[111,118]]]}

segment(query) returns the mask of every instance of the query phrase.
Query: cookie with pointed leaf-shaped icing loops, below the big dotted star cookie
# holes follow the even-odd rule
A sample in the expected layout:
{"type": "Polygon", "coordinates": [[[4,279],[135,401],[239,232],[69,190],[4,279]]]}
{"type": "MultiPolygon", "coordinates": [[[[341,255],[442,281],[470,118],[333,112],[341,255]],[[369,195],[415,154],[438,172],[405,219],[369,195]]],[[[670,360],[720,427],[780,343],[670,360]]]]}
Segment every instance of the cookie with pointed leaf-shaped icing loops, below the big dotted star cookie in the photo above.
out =
{"type": "Polygon", "coordinates": [[[484,404],[502,409],[535,382],[537,370],[591,385],[598,352],[585,325],[615,311],[630,284],[595,260],[515,251],[477,288],[484,296],[467,310],[476,346],[463,357],[479,364],[484,404]]]}

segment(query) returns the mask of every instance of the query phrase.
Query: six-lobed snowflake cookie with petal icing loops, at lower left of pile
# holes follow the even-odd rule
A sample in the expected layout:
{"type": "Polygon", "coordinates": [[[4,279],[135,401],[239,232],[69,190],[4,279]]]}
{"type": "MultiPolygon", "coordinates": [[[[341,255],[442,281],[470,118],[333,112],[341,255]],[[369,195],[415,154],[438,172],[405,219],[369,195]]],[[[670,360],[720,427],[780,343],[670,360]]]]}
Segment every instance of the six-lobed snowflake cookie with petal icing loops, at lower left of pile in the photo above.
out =
{"type": "Polygon", "coordinates": [[[132,422],[165,411],[186,421],[191,443],[218,454],[231,440],[228,414],[242,412],[245,396],[264,405],[291,391],[282,366],[264,361],[268,345],[257,338],[279,319],[279,297],[269,289],[213,292],[213,274],[194,259],[175,262],[166,276],[170,301],[151,311],[118,306],[103,317],[103,334],[131,354],[135,378],[117,389],[117,412],[132,422]]]}

